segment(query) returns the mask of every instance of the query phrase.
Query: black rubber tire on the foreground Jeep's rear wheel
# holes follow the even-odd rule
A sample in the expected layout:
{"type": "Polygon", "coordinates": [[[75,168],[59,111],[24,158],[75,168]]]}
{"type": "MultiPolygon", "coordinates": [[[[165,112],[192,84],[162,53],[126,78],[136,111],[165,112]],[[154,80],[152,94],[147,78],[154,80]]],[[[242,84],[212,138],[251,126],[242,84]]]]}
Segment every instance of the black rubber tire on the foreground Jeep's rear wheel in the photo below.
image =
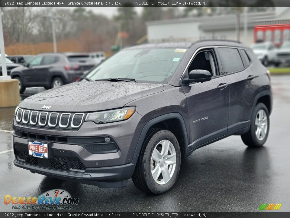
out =
{"type": "Polygon", "coordinates": [[[254,108],[254,111],[251,117],[250,130],[246,134],[241,135],[243,143],[249,147],[262,147],[268,138],[269,127],[270,127],[269,111],[267,107],[265,106],[265,104],[259,103],[254,108]],[[258,137],[256,136],[256,126],[255,126],[256,117],[260,110],[265,111],[266,116],[267,116],[267,130],[266,130],[265,137],[263,137],[262,140],[259,140],[258,137]]]}

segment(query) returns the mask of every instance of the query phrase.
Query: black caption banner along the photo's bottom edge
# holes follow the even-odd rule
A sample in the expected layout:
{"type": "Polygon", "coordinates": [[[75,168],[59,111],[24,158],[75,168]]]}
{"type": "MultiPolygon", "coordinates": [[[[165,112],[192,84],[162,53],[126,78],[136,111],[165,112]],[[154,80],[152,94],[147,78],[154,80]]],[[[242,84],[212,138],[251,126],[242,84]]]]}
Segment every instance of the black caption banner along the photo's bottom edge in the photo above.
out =
{"type": "Polygon", "coordinates": [[[0,217],[289,218],[290,212],[0,212],[0,217]]]}

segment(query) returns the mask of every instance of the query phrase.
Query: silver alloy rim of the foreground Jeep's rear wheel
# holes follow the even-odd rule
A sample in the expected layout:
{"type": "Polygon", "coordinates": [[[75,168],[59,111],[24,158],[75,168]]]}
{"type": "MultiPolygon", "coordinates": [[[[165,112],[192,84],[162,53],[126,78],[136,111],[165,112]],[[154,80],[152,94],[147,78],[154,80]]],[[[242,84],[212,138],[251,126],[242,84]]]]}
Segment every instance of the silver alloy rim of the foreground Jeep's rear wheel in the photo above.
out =
{"type": "Polygon", "coordinates": [[[255,133],[259,140],[263,140],[266,137],[268,129],[268,118],[266,112],[261,109],[256,114],[255,119],[255,133]]]}

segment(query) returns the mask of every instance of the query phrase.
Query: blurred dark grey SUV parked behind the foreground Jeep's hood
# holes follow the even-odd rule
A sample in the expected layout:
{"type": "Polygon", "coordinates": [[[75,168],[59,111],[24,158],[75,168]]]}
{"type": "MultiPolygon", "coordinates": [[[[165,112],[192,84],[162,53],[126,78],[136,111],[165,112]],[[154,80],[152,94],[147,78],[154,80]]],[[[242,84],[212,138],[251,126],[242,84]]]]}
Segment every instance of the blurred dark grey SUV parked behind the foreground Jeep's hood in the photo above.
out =
{"type": "Polygon", "coordinates": [[[18,79],[21,93],[26,87],[50,89],[78,81],[93,66],[88,54],[39,54],[21,68],[12,70],[11,78],[18,79]]]}

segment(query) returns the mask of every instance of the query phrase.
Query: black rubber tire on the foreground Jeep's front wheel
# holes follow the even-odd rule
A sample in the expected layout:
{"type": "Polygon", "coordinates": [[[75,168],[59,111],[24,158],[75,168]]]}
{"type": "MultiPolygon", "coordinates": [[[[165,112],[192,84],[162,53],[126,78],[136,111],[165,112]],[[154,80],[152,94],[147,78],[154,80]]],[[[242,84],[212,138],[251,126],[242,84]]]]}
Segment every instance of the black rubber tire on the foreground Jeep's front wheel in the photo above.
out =
{"type": "Polygon", "coordinates": [[[134,185],[145,193],[161,194],[168,191],[174,185],[178,177],[180,160],[181,154],[179,143],[172,132],[162,129],[153,129],[148,131],[136,164],[134,174],[132,176],[134,185]],[[155,182],[151,174],[151,156],[156,145],[162,140],[169,140],[174,146],[176,152],[176,166],[170,180],[165,184],[158,184],[155,182]]]}

